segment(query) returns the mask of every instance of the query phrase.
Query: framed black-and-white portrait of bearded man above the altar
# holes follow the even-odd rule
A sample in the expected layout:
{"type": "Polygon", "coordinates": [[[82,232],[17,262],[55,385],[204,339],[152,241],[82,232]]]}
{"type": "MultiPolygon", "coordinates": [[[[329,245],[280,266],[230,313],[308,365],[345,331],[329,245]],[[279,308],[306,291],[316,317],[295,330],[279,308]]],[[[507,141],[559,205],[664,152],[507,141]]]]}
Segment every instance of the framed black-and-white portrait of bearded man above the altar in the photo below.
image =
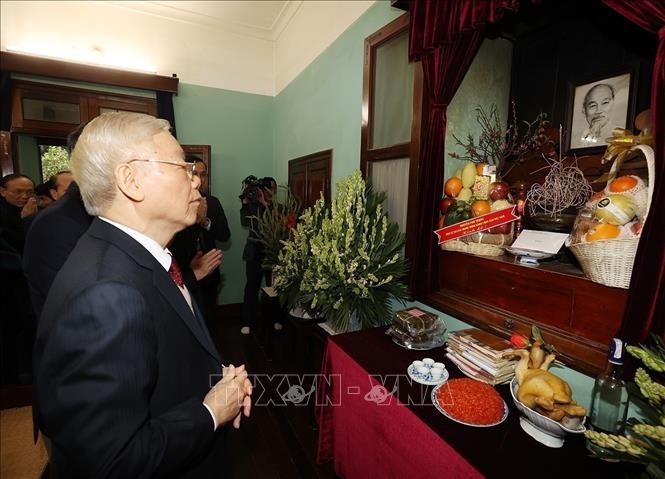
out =
{"type": "Polygon", "coordinates": [[[600,153],[607,148],[606,140],[614,128],[632,130],[636,84],[634,68],[568,82],[567,154],[600,153]]]}

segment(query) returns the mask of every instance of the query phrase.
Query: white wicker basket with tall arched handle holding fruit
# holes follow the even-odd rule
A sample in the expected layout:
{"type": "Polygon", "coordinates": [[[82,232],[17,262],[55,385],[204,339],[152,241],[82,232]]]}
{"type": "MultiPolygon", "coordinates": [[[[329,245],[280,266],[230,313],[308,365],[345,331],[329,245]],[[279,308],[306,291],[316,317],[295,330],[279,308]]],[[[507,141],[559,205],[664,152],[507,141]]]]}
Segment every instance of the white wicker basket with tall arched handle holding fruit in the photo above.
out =
{"type": "MultiPolygon", "coordinates": [[[[631,151],[637,154],[641,152],[647,160],[649,185],[647,208],[644,215],[646,218],[649,214],[655,183],[653,150],[649,146],[638,145],[633,147],[631,151]]],[[[610,170],[610,180],[608,182],[617,175],[618,167],[619,165],[615,161],[610,170]]],[[[639,237],[601,240],[591,243],[577,243],[571,245],[570,250],[580,262],[584,274],[591,281],[605,286],[627,289],[630,286],[630,277],[633,273],[633,263],[635,262],[635,253],[639,242],[639,237]]]]}

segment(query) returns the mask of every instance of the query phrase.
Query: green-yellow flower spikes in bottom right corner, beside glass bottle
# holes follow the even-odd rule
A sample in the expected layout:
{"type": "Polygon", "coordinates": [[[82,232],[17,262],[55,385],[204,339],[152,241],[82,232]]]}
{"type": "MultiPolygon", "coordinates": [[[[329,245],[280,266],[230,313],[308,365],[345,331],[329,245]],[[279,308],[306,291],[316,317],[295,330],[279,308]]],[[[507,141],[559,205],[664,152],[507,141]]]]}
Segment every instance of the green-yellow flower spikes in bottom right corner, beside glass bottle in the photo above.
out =
{"type": "Polygon", "coordinates": [[[665,477],[665,344],[652,334],[655,345],[627,346],[626,351],[640,359],[654,378],[643,368],[635,373],[631,384],[631,402],[637,404],[646,421],[628,419],[624,435],[587,431],[586,438],[602,449],[594,449],[594,455],[609,460],[637,462],[647,466],[649,477],[665,477]]]}

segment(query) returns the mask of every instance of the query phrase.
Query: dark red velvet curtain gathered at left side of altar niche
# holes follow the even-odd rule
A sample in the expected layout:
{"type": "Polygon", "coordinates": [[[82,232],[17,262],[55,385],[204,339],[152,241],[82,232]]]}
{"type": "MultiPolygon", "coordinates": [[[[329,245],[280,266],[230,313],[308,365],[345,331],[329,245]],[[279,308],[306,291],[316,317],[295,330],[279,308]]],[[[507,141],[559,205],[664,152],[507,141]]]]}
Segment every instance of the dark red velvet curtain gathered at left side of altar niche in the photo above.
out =
{"type": "Polygon", "coordinates": [[[418,245],[411,269],[411,294],[438,289],[438,245],[433,230],[443,188],[446,109],[483,40],[485,25],[518,0],[414,0],[411,4],[409,56],[423,64],[429,114],[418,171],[418,245]]]}

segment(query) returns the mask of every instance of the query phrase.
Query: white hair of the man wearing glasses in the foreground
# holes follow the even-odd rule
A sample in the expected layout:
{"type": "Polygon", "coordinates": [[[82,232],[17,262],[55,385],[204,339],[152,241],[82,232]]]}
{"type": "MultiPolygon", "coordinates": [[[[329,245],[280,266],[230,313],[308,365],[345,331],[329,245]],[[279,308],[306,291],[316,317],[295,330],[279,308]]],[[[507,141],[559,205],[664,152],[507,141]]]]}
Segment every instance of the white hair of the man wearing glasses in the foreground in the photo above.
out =
{"type": "Polygon", "coordinates": [[[85,126],[70,164],[88,214],[99,216],[113,202],[116,166],[145,158],[146,143],[169,128],[166,120],[130,112],[104,113],[85,126]]]}

